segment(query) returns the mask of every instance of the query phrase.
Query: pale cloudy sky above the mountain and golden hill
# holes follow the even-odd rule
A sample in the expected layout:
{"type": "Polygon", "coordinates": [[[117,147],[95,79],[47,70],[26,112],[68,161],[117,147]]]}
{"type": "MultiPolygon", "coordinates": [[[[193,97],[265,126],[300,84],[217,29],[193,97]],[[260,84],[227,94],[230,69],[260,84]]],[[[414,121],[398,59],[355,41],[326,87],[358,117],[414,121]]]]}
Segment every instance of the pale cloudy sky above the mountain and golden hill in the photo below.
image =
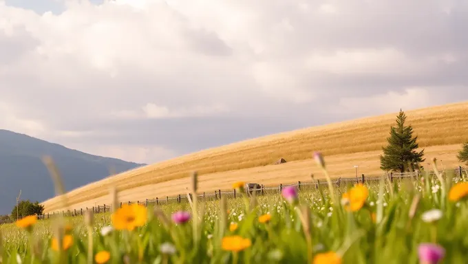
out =
{"type": "Polygon", "coordinates": [[[465,0],[0,0],[0,128],[154,163],[468,100],[465,0]]]}

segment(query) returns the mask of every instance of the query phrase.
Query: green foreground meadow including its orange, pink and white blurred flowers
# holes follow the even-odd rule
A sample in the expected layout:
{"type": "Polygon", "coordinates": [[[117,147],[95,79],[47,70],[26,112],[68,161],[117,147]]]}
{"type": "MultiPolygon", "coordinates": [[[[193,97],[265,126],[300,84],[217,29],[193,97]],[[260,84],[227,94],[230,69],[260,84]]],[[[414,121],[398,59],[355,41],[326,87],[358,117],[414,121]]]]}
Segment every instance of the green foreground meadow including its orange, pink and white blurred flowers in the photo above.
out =
{"type": "MultiPolygon", "coordinates": [[[[1,263],[465,263],[468,258],[467,175],[283,188],[281,194],[118,207],[107,214],[0,227],[1,263]],[[61,246],[58,246],[61,245],[61,246]]],[[[59,179],[56,179],[59,181],[59,179]]],[[[67,206],[67,195],[58,197],[67,206]]],[[[193,175],[189,192],[198,193],[193,175]]]]}

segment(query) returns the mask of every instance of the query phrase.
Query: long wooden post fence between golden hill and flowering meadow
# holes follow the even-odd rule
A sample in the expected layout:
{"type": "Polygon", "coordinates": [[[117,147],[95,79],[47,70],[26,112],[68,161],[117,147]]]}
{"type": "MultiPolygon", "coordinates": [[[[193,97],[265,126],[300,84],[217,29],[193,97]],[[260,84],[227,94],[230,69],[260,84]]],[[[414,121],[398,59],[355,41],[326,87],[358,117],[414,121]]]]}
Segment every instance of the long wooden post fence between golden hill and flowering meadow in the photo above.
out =
{"type": "MultiPolygon", "coordinates": [[[[466,168],[462,168],[461,166],[458,166],[458,168],[454,169],[454,173],[456,176],[462,177],[462,173],[467,173],[466,168]]],[[[424,173],[422,173],[424,175],[424,173]]],[[[434,177],[434,171],[429,172],[429,175],[434,177]]],[[[418,179],[418,177],[421,176],[420,172],[414,172],[414,173],[390,173],[388,177],[390,178],[390,181],[394,181],[394,179],[404,179],[404,178],[414,178],[418,179]]],[[[342,186],[343,184],[354,184],[357,182],[368,182],[368,181],[379,181],[381,179],[380,176],[371,176],[371,177],[366,177],[364,174],[361,174],[359,177],[340,177],[337,179],[332,179],[332,184],[336,185],[337,187],[342,186]]],[[[257,189],[257,194],[258,195],[265,195],[265,194],[273,194],[273,193],[280,193],[281,190],[286,187],[286,186],[295,186],[299,191],[301,190],[313,190],[313,189],[318,189],[320,186],[328,184],[325,179],[317,179],[313,182],[301,182],[297,181],[297,183],[290,183],[290,184],[279,184],[279,186],[264,186],[263,184],[260,186],[259,189],[257,189]]],[[[191,194],[190,194],[191,195],[191,194]]],[[[239,195],[236,193],[236,190],[214,190],[211,193],[208,192],[203,192],[198,195],[198,199],[202,201],[207,201],[207,200],[216,200],[220,199],[221,196],[226,196],[228,198],[237,198],[239,195]]],[[[131,204],[131,203],[138,203],[144,206],[151,206],[151,205],[164,205],[164,204],[169,204],[169,203],[182,203],[182,202],[188,202],[187,194],[184,195],[176,195],[175,197],[156,197],[154,199],[146,199],[145,201],[127,201],[125,203],[131,204]]],[[[122,207],[123,202],[120,202],[120,207],[122,207]]],[[[65,211],[63,210],[62,212],[48,212],[46,214],[41,214],[38,216],[38,219],[50,219],[52,217],[57,217],[58,215],[62,215],[64,217],[76,217],[76,216],[82,216],[83,213],[86,210],[93,210],[94,213],[101,213],[101,212],[109,212],[111,210],[111,206],[109,204],[103,204],[102,206],[93,206],[90,208],[81,208],[81,209],[74,209],[74,210],[68,210],[65,211]]],[[[12,221],[1,221],[1,223],[11,223],[12,221]]]]}

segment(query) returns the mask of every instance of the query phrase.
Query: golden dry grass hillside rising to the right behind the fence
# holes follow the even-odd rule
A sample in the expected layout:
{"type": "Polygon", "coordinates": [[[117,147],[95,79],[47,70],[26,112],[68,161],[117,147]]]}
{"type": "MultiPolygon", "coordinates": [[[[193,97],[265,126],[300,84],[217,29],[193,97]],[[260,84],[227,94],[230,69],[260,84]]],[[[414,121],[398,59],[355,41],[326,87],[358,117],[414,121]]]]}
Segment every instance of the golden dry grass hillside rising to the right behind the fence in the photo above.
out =
{"type": "MultiPolygon", "coordinates": [[[[405,111],[427,160],[437,157],[445,168],[458,166],[456,153],[468,140],[468,102],[405,111]]],[[[244,180],[265,185],[310,181],[310,173],[321,177],[311,159],[313,151],[326,157],[334,177],[379,175],[379,154],[387,144],[397,113],[347,122],[314,126],[253,140],[210,148],[120,173],[67,193],[70,209],[109,203],[107,191],[114,185],[123,201],[144,201],[184,194],[189,173],[198,170],[200,191],[231,188],[244,180]],[[286,164],[271,165],[283,157],[286,164]]],[[[45,212],[62,210],[58,197],[43,202],[45,212]]]]}

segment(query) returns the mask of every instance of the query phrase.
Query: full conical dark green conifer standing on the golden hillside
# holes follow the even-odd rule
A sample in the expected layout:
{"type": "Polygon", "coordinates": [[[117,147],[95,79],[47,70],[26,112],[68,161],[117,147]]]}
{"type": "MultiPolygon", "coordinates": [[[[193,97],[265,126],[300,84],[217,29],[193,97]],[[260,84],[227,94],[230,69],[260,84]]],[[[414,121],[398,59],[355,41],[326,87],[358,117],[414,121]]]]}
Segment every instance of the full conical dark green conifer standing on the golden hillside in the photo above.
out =
{"type": "Polygon", "coordinates": [[[412,137],[413,128],[405,126],[405,120],[406,115],[400,109],[400,113],[396,116],[396,126],[390,128],[388,146],[382,147],[383,155],[380,155],[382,170],[404,173],[408,164],[414,169],[416,164],[425,161],[424,150],[416,152],[418,137],[412,137]]]}

